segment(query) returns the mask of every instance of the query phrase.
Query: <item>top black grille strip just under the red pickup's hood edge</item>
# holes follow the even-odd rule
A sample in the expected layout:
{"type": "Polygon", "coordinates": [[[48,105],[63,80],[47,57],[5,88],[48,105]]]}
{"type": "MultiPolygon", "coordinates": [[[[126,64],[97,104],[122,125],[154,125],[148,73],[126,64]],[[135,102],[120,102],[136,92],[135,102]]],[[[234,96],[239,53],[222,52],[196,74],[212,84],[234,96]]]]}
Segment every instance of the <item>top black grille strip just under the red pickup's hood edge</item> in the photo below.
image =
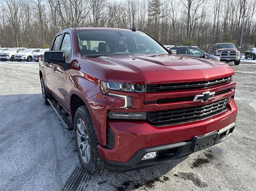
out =
{"type": "Polygon", "coordinates": [[[206,87],[212,87],[224,83],[231,82],[231,76],[200,82],[186,82],[186,83],[171,83],[171,84],[149,84],[148,92],[164,92],[164,91],[176,91],[176,90],[189,90],[200,89],[206,87]]]}

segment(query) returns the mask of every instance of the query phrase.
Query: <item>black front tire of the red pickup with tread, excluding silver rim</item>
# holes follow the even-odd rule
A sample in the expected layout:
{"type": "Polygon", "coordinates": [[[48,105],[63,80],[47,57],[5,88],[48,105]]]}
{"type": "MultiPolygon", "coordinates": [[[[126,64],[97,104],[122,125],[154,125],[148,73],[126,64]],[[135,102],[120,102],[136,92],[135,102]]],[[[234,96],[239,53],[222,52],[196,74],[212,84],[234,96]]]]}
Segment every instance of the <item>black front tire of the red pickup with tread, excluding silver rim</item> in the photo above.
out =
{"type": "Polygon", "coordinates": [[[92,124],[91,116],[88,112],[88,109],[86,106],[80,106],[76,110],[76,114],[74,117],[74,135],[75,135],[75,142],[76,142],[76,151],[78,154],[79,161],[84,168],[84,170],[89,173],[90,175],[93,174],[99,174],[104,171],[106,171],[106,166],[100,157],[100,154],[98,152],[98,141],[96,138],[96,134],[94,131],[94,126],[92,124]],[[80,152],[79,146],[78,146],[78,134],[77,134],[77,124],[78,120],[82,119],[86,126],[86,132],[88,135],[88,143],[89,143],[89,149],[90,149],[90,159],[86,163],[84,159],[82,158],[82,153],[80,152]]]}

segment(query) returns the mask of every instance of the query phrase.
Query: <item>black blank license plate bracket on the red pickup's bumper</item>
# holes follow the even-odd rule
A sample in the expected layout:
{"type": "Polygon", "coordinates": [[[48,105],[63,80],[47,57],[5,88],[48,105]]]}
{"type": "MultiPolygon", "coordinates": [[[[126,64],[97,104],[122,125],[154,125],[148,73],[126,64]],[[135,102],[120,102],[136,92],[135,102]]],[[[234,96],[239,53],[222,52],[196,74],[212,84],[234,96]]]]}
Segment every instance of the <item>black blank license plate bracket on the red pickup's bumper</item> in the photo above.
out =
{"type": "Polygon", "coordinates": [[[194,136],[192,152],[200,151],[215,144],[218,132],[216,130],[199,136],[194,136]]]}

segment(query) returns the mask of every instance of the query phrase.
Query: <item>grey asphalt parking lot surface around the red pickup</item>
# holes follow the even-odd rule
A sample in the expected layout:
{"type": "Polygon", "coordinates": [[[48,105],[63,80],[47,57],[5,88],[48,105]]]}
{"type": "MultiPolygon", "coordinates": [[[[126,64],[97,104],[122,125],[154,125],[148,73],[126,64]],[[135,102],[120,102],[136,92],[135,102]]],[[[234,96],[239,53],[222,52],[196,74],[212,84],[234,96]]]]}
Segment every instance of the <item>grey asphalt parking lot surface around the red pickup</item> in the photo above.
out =
{"type": "Polygon", "coordinates": [[[41,96],[38,63],[0,62],[0,190],[256,190],[256,62],[236,71],[233,135],[188,157],[144,169],[90,176],[74,134],[41,96]]]}

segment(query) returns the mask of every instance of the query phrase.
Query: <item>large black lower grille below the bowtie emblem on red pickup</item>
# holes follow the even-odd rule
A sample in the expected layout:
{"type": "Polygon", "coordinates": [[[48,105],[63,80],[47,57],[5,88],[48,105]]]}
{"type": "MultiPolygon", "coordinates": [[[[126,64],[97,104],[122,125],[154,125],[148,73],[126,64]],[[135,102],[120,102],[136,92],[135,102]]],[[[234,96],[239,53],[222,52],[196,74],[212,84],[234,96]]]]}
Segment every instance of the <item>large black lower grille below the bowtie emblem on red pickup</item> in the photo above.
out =
{"type": "Polygon", "coordinates": [[[148,112],[147,120],[154,126],[164,126],[191,122],[208,118],[227,110],[226,104],[229,98],[188,108],[148,112]]]}

